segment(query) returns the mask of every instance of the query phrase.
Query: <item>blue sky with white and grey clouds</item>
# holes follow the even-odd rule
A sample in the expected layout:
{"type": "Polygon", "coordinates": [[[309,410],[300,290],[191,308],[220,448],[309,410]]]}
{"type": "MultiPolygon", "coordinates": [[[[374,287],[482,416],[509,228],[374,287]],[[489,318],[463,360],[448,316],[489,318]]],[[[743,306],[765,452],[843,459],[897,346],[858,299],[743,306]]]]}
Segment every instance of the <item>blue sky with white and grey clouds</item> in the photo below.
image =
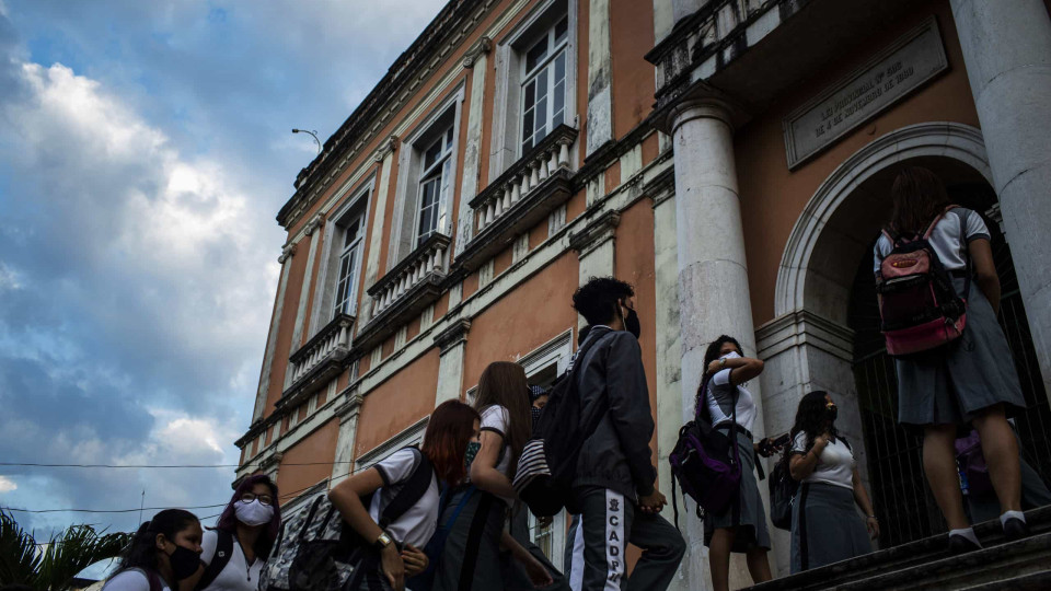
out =
{"type": "MultiPolygon", "coordinates": [[[[290,129],[324,141],[441,4],[0,0],[0,462],[236,462],[315,153],[290,129]]],[[[0,507],[216,505],[232,474],[0,465],[0,507]]]]}

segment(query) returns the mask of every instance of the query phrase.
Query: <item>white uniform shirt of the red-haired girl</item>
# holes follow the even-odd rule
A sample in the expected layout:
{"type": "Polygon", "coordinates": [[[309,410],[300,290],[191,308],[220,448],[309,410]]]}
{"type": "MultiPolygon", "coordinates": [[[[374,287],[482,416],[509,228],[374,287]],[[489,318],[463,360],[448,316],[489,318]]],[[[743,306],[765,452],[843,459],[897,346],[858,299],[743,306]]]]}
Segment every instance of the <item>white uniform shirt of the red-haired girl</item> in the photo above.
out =
{"type": "MultiPolygon", "coordinates": [[[[372,495],[372,502],[369,505],[369,515],[373,521],[380,522],[383,510],[413,476],[419,459],[419,450],[406,448],[392,453],[373,466],[383,478],[383,486],[372,495]]],[[[412,544],[423,549],[438,526],[439,497],[438,478],[431,478],[430,486],[427,487],[427,493],[424,493],[419,502],[390,523],[386,526],[388,533],[401,544],[412,544]]]]}

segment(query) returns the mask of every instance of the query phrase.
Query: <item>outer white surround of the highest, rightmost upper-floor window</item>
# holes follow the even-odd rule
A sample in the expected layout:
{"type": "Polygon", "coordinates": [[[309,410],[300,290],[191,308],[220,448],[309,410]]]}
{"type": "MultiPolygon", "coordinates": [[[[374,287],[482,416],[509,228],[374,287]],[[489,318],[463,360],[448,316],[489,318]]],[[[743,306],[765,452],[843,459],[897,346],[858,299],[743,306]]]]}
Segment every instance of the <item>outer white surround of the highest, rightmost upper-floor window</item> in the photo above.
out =
{"type": "MultiPolygon", "coordinates": [[[[522,83],[526,51],[564,16],[568,18],[566,51],[566,105],[563,120],[579,127],[577,120],[577,63],[580,55],[577,39],[579,0],[545,0],[539,2],[527,16],[496,46],[496,89],[494,104],[512,108],[496,109],[493,118],[493,138],[489,153],[489,181],[503,174],[521,155],[522,147],[522,83]]],[[[548,56],[552,57],[553,56],[548,56]]],[[[586,59],[586,58],[585,58],[586,59]]],[[[551,129],[547,130],[551,132],[551,129]]],[[[570,163],[578,166],[579,154],[570,150],[570,163]]]]}

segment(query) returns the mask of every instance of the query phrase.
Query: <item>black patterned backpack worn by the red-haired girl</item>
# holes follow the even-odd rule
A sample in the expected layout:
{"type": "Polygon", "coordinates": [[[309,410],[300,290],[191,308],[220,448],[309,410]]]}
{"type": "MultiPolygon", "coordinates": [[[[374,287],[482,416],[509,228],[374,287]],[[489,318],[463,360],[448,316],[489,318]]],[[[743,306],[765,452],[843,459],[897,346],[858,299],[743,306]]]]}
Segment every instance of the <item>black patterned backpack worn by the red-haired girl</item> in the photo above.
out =
{"type": "MultiPolygon", "coordinates": [[[[380,515],[386,529],[414,507],[435,479],[430,460],[416,448],[418,463],[412,476],[380,515]]],[[[372,495],[361,497],[368,508],[372,495]]],[[[281,525],[270,559],[263,568],[259,591],[340,591],[357,589],[363,577],[374,573],[380,556],[372,545],[343,521],[327,494],[317,495],[310,507],[281,525]]]]}

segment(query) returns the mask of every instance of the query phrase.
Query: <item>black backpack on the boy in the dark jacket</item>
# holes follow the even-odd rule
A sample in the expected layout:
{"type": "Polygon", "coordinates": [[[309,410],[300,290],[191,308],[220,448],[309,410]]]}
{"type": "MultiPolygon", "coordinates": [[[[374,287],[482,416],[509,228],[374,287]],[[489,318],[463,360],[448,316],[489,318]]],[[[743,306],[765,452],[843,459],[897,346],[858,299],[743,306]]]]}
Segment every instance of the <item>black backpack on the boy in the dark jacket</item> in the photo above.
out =
{"type": "MultiPolygon", "coordinates": [[[[585,356],[602,335],[585,339],[575,360],[585,356]]],[[[585,441],[594,433],[605,409],[600,408],[582,424],[576,363],[551,387],[547,404],[533,427],[535,437],[522,449],[515,473],[515,490],[536,517],[553,517],[566,507],[585,441]]]]}

